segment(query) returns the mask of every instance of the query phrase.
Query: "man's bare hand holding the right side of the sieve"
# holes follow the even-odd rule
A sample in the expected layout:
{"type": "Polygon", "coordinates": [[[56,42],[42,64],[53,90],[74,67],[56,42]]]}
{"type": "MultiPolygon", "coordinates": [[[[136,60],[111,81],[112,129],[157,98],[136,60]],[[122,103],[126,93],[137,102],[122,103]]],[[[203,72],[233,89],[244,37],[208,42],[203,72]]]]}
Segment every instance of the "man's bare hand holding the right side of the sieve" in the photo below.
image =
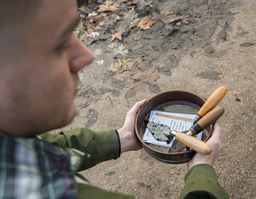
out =
{"type": "Polygon", "coordinates": [[[212,165],[218,154],[221,152],[223,146],[221,143],[222,129],[220,122],[216,121],[213,125],[213,132],[211,138],[206,142],[212,147],[212,153],[210,155],[202,155],[195,153],[195,156],[188,162],[187,170],[193,167],[195,164],[210,164],[212,165]]]}

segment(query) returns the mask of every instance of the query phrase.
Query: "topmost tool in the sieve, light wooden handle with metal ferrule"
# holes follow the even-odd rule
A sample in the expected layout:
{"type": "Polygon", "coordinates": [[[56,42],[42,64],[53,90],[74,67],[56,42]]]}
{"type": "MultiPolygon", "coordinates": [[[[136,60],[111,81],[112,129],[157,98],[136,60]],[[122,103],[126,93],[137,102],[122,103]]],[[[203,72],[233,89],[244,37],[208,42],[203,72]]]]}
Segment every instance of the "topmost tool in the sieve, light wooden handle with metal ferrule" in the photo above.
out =
{"type": "Polygon", "coordinates": [[[224,98],[224,96],[227,93],[227,87],[221,86],[216,89],[212,95],[209,96],[207,101],[204,103],[204,105],[201,107],[201,109],[198,111],[196,117],[194,118],[193,124],[195,124],[197,121],[199,121],[204,115],[207,114],[207,112],[214,109],[218,103],[224,98]]]}

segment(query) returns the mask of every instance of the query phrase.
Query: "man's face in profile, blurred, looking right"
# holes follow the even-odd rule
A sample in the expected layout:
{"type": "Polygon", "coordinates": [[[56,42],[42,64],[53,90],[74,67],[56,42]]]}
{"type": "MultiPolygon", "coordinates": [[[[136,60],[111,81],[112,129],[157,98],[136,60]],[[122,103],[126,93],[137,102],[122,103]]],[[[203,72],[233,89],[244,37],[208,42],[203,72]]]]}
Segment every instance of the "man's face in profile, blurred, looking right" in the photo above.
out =
{"type": "Polygon", "coordinates": [[[76,0],[42,2],[25,55],[0,74],[0,131],[9,135],[33,136],[69,124],[76,115],[78,72],[93,61],[73,34],[76,0]]]}

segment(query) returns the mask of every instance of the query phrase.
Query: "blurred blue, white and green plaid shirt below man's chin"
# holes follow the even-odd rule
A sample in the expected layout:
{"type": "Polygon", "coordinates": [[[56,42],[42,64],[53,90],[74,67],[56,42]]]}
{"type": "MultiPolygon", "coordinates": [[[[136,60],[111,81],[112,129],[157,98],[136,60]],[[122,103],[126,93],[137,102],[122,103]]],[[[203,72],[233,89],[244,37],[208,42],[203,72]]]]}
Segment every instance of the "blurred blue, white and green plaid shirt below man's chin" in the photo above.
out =
{"type": "Polygon", "coordinates": [[[0,136],[0,199],[75,199],[78,150],[36,138],[0,136]]]}

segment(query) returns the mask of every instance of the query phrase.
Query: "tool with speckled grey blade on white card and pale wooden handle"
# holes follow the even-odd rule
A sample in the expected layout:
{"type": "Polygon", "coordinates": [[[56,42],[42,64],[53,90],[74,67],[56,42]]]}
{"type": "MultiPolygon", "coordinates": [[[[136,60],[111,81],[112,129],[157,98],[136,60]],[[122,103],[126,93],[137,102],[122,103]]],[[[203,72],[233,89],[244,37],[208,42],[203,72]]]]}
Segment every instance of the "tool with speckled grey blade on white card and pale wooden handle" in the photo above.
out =
{"type": "Polygon", "coordinates": [[[197,151],[198,153],[205,155],[209,155],[210,153],[212,153],[212,148],[206,142],[201,141],[193,136],[189,136],[186,133],[170,130],[170,128],[165,124],[158,124],[149,121],[147,127],[153,135],[157,134],[158,131],[160,131],[162,134],[165,134],[166,136],[174,136],[178,141],[182,142],[187,147],[197,151]]]}

